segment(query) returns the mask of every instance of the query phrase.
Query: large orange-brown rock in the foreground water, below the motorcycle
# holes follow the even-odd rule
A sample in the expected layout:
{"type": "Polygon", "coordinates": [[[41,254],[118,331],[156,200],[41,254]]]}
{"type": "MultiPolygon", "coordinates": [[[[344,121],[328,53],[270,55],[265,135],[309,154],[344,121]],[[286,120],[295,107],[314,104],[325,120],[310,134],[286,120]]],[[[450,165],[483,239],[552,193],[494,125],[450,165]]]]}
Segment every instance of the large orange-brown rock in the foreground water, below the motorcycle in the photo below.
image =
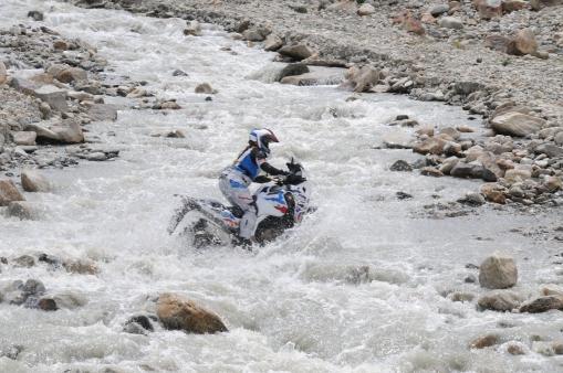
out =
{"type": "Polygon", "coordinates": [[[228,331],[221,319],[194,301],[174,294],[158,297],[157,316],[164,328],[188,333],[216,333],[228,331]]]}

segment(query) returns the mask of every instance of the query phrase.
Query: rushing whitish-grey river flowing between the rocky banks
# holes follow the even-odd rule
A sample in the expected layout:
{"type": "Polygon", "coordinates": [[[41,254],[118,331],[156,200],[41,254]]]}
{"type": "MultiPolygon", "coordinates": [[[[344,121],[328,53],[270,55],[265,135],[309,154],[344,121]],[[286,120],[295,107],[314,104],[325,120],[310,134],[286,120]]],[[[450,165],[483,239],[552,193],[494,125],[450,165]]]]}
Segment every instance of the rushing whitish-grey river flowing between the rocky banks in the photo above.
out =
{"type": "Polygon", "coordinates": [[[445,297],[482,294],[463,281],[477,275],[466,265],[496,251],[517,258],[522,294],[563,283],[561,268],[552,264],[555,243],[511,232],[553,222],[555,213],[514,215],[486,206],[467,216],[428,219],[424,205],[456,200],[479,183],[392,172],[395,160],[417,156],[377,149],[385,134],[397,130],[385,124],[398,114],[438,127],[478,128],[479,120],[469,120],[460,108],[403,96],[346,102],[351,94],[335,86],[268,83],[274,54],[212,25],[204,25],[200,38],[185,36],[179,19],[2,0],[0,26],[31,22],[29,10],[45,12],[42,24],[95,45],[108,61],[107,78],[146,81],[149,92],[176,98],[183,109],[124,109],[115,122],[88,126],[90,136],[121,149],[119,158],[45,169],[55,190],[27,195],[44,206],[42,219],[0,215],[0,255],[42,252],[90,258],[101,268],[98,275],[72,275],[45,265],[2,267],[2,283],[37,278],[50,294],[73,291],[87,303],[56,312],[0,303],[0,350],[24,348],[15,361],[0,358],[1,372],[563,369],[561,356],[538,353],[533,342],[534,335],[562,338],[559,313],[481,312],[475,300],[445,297]],[[188,76],[173,76],[177,68],[188,76]],[[202,82],[219,90],[212,102],[194,93],[202,82]],[[231,247],[196,252],[170,237],[166,227],[178,205],[174,195],[221,199],[217,177],[253,126],[269,127],[281,139],[273,147],[274,166],[292,156],[304,164],[319,210],[254,254],[231,247]],[[176,129],[186,138],[154,136],[176,129]],[[414,198],[397,200],[397,191],[414,198]],[[230,332],[123,332],[124,321],[163,291],[184,294],[213,310],[230,332]],[[489,332],[503,342],[522,342],[526,354],[510,355],[502,343],[468,348],[489,332]]]}

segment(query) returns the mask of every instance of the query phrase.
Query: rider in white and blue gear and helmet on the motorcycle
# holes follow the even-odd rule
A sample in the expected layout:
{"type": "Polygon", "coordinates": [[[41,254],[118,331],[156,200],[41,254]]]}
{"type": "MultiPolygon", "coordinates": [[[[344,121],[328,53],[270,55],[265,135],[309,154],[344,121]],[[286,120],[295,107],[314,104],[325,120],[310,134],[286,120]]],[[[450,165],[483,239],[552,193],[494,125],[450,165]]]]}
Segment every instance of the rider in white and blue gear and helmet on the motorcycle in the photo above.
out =
{"type": "MultiPolygon", "coordinates": [[[[262,181],[260,172],[270,175],[286,175],[286,171],[279,170],[267,162],[270,154],[270,142],[279,142],[269,129],[253,129],[250,131],[248,146],[242,150],[232,166],[225,169],[219,178],[219,189],[233,205],[240,209],[239,236],[244,244],[249,244],[256,230],[257,206],[250,193],[252,182],[262,181]]],[[[263,182],[263,181],[262,181],[263,182]]],[[[237,214],[237,212],[234,212],[237,214]]]]}

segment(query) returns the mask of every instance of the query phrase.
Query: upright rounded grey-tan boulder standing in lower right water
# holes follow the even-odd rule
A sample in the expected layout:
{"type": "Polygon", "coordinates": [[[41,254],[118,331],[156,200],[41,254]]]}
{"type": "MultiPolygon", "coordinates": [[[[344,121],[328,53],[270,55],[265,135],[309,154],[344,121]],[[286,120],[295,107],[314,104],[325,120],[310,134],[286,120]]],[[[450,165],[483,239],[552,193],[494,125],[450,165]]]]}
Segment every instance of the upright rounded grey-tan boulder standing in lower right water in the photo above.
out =
{"type": "Polygon", "coordinates": [[[483,288],[505,289],[518,281],[518,269],[513,258],[492,255],[479,267],[479,284],[483,288]]]}

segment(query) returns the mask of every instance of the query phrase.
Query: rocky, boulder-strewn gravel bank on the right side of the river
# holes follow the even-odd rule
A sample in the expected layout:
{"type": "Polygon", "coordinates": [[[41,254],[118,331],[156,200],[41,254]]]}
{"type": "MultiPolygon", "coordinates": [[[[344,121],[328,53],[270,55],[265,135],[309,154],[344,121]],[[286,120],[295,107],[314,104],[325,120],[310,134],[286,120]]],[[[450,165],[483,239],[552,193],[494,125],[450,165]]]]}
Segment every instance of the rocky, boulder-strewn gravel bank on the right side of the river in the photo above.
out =
{"type": "MultiPolygon", "coordinates": [[[[435,131],[430,124],[418,127],[416,138],[388,146],[425,154],[426,162],[415,167],[421,174],[488,182],[477,193],[481,196],[468,196],[470,203],[563,203],[559,1],[81,0],[77,4],[184,18],[187,36],[199,34],[198,21],[218,23],[249,45],[277,51],[277,61],[302,66],[280,78],[282,83],[314,85],[331,76],[310,73],[306,66],[348,67],[343,87],[355,93],[400,93],[461,105],[484,118],[488,138],[468,139],[456,128],[435,131]]],[[[417,125],[416,120],[393,125],[397,124],[417,125]]]]}

